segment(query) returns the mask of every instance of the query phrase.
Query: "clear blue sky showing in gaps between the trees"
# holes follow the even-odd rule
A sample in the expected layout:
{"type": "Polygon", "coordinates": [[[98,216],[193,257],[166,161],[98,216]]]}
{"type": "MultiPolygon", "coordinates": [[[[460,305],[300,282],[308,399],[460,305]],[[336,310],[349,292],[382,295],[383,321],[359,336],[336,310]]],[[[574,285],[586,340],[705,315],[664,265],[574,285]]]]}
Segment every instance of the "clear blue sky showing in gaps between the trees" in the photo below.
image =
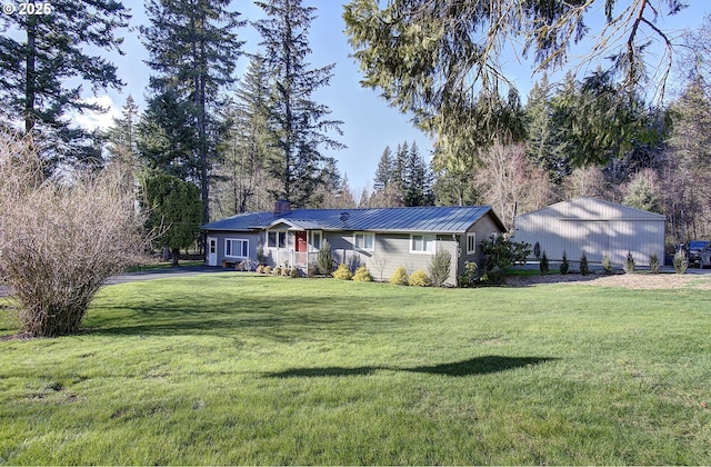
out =
{"type": "MultiPolygon", "coordinates": [[[[660,18],[658,26],[672,31],[698,26],[707,9],[711,11],[711,2],[707,3],[703,0],[690,2],[692,6],[680,14],[667,19],[660,18]]],[[[348,148],[329,156],[333,156],[339,161],[339,168],[342,173],[348,175],[351,188],[360,189],[372,186],[378,159],[387,146],[394,149],[404,141],[408,143],[414,141],[420,152],[429,159],[432,143],[422,131],[412,127],[409,116],[401,115],[389,107],[379,96],[379,91],[361,88],[358,66],[350,57],[352,50],[343,33],[342,3],[338,0],[304,0],[304,4],[318,8],[318,18],[311,24],[313,53],[309,57],[309,61],[314,68],[336,63],[331,85],[321,89],[316,100],[330,107],[332,118],[344,122],[343,136],[338,139],[348,148]]],[[[593,8],[601,8],[603,2],[599,3],[600,7],[593,8]]],[[[628,1],[619,0],[619,3],[628,3],[628,1]]],[[[124,0],[124,4],[132,11],[132,26],[147,21],[142,0],[124,0]]],[[[243,19],[256,20],[262,17],[262,10],[251,1],[233,1],[232,4],[232,9],[240,11],[243,19]]],[[[251,27],[243,28],[240,36],[247,40],[244,51],[251,52],[258,49],[260,38],[251,27]]],[[[100,101],[111,106],[114,111],[123,106],[129,93],[133,96],[141,109],[143,108],[143,95],[150,74],[150,70],[143,63],[148,56],[138,38],[138,32],[127,32],[124,37],[126,56],[116,56],[112,59],[119,67],[119,76],[127,86],[121,92],[109,91],[108,96],[100,97],[100,101]]],[[[575,49],[573,54],[582,53],[581,50],[582,48],[575,49]]],[[[514,54],[507,57],[509,58],[503,63],[508,70],[507,73],[515,82],[521,97],[525,99],[538,77],[531,76],[529,63],[520,62],[514,54]]],[[[246,66],[247,58],[241,58],[238,62],[238,74],[241,74],[246,66]]],[[[79,119],[87,126],[106,125],[107,121],[110,122],[110,115],[80,116],[79,119]]]]}

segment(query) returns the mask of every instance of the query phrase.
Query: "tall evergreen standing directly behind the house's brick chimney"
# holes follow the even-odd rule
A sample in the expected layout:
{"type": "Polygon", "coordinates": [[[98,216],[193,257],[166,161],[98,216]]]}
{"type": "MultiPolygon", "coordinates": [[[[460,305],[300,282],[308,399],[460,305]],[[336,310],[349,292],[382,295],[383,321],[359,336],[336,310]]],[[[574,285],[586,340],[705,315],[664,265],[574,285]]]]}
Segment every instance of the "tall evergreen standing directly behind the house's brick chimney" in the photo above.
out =
{"type": "Polygon", "coordinates": [[[273,195],[307,206],[312,200],[327,161],[323,149],[343,147],[329,136],[341,133],[341,121],[329,120],[330,109],[313,100],[313,93],[328,86],[334,64],[309,69],[309,27],[316,8],[303,7],[301,0],[257,2],[268,18],[257,21],[266,49],[267,69],[273,82],[270,128],[279,159],[269,165],[270,173],[280,181],[273,195]]]}

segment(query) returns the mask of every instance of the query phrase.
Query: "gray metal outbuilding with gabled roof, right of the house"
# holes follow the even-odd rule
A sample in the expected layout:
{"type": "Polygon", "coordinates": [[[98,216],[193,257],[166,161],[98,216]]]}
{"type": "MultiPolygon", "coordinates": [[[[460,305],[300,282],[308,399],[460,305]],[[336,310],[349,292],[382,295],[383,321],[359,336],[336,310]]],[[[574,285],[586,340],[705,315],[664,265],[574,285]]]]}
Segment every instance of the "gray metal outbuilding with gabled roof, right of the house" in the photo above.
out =
{"type": "Polygon", "coordinates": [[[579,261],[583,252],[589,262],[602,262],[609,255],[613,265],[622,265],[628,252],[637,265],[649,265],[655,254],[664,261],[665,217],[601,199],[582,197],[561,201],[518,216],[514,241],[535,246],[549,260],[579,261]]]}

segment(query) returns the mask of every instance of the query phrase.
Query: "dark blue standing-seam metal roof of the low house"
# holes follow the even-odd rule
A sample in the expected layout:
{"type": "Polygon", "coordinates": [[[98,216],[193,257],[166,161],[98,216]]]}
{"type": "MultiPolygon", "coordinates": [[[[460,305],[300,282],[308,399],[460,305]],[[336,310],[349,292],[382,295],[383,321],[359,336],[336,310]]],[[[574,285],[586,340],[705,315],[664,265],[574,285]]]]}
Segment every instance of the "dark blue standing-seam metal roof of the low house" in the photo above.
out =
{"type": "Polygon", "coordinates": [[[454,234],[467,231],[489,212],[501,230],[505,231],[503,223],[490,206],[296,209],[281,215],[252,212],[206,223],[201,229],[259,230],[283,222],[294,229],[303,230],[454,234]]]}

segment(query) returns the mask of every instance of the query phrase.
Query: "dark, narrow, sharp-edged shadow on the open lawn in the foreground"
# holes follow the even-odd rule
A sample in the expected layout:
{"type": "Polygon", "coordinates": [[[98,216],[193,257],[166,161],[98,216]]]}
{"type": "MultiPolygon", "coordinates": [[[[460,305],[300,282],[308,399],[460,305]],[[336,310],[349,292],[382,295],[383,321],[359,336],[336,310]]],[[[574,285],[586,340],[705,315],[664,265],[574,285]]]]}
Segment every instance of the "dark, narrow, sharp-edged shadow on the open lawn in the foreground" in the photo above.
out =
{"type": "Polygon", "coordinates": [[[490,372],[507,371],[510,369],[529,367],[544,361],[555,360],[557,358],[544,357],[502,357],[498,355],[488,355],[483,357],[470,358],[469,360],[455,361],[451,364],[441,364],[433,366],[422,366],[413,368],[393,368],[393,367],[321,367],[321,368],[292,368],[284,371],[268,372],[269,378],[313,378],[313,377],[333,377],[333,376],[364,376],[371,375],[378,370],[391,371],[410,371],[427,372],[431,375],[444,376],[475,376],[487,375],[490,372]]]}

